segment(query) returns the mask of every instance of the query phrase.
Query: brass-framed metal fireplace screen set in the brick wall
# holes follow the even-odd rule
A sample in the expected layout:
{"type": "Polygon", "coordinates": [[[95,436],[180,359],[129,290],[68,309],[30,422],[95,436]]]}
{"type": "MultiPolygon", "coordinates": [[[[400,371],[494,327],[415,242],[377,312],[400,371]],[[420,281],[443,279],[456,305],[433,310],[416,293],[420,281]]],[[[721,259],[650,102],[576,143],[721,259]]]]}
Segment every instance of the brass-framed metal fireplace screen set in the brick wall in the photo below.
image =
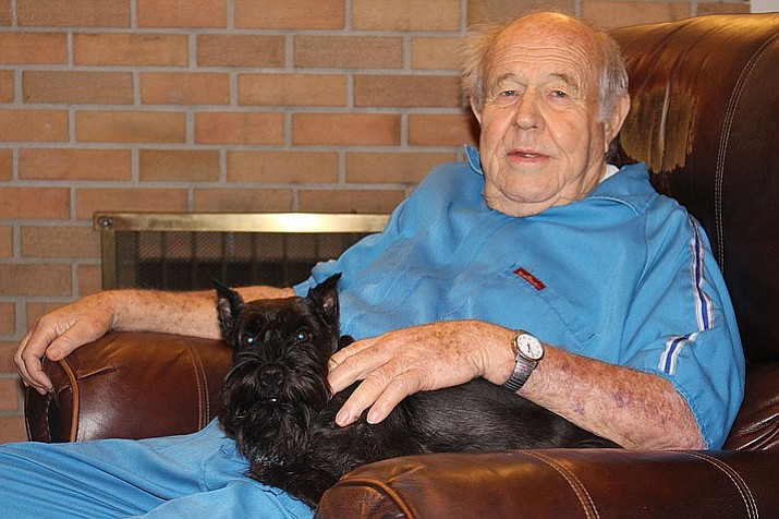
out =
{"type": "Polygon", "coordinates": [[[290,287],[320,261],[380,231],[387,215],[149,214],[94,217],[102,288],[194,290],[214,280],[290,287]]]}

